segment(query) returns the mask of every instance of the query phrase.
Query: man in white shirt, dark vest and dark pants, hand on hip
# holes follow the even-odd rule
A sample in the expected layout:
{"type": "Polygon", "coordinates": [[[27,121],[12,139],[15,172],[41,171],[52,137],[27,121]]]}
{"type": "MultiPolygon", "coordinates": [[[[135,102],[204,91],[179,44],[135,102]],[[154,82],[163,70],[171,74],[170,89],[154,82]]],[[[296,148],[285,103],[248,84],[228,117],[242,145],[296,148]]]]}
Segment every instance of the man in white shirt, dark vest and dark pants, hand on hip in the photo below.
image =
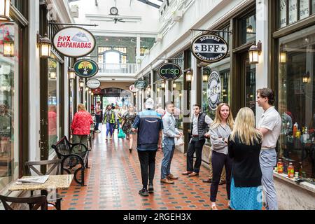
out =
{"type": "Polygon", "coordinates": [[[190,127],[190,130],[192,130],[191,139],[187,151],[187,171],[183,172],[183,175],[199,176],[202,163],[202,148],[206,141],[204,135],[207,134],[209,125],[211,125],[213,120],[207,114],[202,113],[199,104],[193,106],[193,111],[193,122],[190,127]],[[195,152],[196,161],[195,166],[193,166],[195,152]]]}

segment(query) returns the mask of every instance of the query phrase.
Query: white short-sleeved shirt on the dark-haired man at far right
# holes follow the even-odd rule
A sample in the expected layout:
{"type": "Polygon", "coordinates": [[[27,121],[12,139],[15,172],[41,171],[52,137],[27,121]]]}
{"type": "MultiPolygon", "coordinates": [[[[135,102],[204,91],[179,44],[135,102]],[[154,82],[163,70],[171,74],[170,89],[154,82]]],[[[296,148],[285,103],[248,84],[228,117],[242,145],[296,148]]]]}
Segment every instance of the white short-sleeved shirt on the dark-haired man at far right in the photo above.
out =
{"type": "Polygon", "coordinates": [[[269,130],[262,140],[262,149],[276,148],[276,142],[278,141],[281,132],[281,124],[281,116],[278,111],[274,109],[274,106],[262,113],[258,128],[265,127],[269,130]]]}

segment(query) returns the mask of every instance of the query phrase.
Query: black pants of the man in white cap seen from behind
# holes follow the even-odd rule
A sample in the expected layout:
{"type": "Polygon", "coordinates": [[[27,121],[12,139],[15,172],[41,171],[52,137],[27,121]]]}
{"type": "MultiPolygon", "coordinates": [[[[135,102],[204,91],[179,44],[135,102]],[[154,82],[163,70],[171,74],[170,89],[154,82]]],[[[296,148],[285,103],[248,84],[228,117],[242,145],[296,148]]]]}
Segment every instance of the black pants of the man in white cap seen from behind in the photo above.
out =
{"type": "Polygon", "coordinates": [[[140,166],[141,166],[141,178],[142,185],[145,189],[148,188],[149,183],[153,183],[155,174],[155,155],[157,151],[138,151],[140,166]]]}

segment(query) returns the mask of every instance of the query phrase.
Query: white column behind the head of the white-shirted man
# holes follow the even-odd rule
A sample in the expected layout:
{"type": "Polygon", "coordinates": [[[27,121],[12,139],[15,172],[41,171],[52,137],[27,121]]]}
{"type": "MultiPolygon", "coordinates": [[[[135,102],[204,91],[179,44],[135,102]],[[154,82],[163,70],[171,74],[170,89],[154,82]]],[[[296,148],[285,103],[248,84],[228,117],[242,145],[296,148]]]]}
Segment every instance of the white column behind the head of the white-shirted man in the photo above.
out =
{"type": "MultiPolygon", "coordinates": [[[[262,52],[259,56],[259,64],[256,65],[256,90],[269,87],[270,74],[268,73],[268,1],[256,1],[256,42],[261,41],[262,52]]],[[[256,125],[258,125],[262,108],[256,104],[256,125]]]]}

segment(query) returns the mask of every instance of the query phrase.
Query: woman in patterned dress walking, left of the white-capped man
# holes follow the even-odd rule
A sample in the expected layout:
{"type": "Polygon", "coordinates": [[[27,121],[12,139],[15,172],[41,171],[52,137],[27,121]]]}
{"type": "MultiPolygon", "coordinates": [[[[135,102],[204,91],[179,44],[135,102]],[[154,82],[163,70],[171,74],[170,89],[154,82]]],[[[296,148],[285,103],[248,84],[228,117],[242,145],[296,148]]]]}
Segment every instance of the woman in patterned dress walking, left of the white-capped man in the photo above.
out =
{"type": "Polygon", "coordinates": [[[129,136],[129,151],[132,152],[132,143],[134,141],[133,135],[136,134],[132,132],[132,124],[137,114],[134,112],[134,106],[130,105],[128,111],[123,115],[123,123],[121,124],[123,132],[129,136]]]}

